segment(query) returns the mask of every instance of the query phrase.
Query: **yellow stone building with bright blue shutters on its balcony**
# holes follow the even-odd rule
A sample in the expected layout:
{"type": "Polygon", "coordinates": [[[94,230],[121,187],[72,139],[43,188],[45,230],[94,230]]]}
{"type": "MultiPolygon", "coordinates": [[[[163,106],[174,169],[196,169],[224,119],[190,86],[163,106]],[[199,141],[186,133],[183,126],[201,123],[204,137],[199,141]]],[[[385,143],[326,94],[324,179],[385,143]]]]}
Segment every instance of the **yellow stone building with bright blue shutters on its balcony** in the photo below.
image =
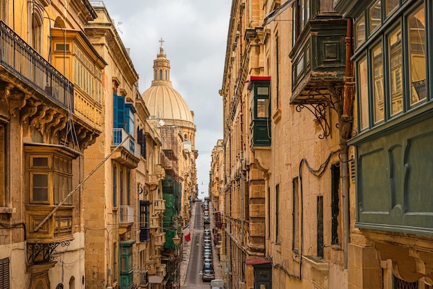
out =
{"type": "Polygon", "coordinates": [[[107,62],[104,133],[85,155],[88,171],[102,163],[86,184],[91,192],[85,198],[86,288],[147,288],[166,275],[162,142],[147,120],[129,53],[102,4],[95,3],[98,18],[86,25],[86,35],[107,62]]]}

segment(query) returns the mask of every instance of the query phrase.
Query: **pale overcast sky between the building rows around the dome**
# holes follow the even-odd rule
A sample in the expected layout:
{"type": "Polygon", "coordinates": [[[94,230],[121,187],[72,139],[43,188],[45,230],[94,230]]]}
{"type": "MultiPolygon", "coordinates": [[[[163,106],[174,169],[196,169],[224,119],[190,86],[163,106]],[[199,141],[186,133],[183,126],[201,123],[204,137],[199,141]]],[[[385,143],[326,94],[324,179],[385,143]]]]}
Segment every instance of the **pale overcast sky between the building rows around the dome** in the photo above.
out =
{"type": "Polygon", "coordinates": [[[210,155],[223,138],[223,81],[231,0],[104,0],[140,76],[140,93],[151,85],[163,38],[170,80],[194,111],[199,196],[208,195],[210,155]],[[204,194],[201,194],[204,192],[204,194]]]}

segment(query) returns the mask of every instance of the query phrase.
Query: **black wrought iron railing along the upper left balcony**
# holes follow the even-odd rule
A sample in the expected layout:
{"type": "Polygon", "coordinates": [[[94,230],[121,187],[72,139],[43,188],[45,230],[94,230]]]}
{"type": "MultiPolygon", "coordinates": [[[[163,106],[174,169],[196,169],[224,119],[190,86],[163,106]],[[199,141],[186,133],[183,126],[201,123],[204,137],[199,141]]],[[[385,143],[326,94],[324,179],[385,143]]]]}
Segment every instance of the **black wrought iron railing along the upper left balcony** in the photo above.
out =
{"type": "Polygon", "coordinates": [[[50,100],[73,112],[73,83],[0,21],[0,64],[50,100]]]}

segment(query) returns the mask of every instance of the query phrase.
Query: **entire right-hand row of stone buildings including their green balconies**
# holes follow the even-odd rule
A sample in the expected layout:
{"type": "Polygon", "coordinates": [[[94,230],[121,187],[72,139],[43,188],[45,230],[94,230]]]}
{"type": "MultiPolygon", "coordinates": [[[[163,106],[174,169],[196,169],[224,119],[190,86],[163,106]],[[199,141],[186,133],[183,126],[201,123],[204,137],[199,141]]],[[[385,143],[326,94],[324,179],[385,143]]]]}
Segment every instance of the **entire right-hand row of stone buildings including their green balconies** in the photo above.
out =
{"type": "Polygon", "coordinates": [[[427,2],[232,1],[229,288],[431,288],[427,2]]]}

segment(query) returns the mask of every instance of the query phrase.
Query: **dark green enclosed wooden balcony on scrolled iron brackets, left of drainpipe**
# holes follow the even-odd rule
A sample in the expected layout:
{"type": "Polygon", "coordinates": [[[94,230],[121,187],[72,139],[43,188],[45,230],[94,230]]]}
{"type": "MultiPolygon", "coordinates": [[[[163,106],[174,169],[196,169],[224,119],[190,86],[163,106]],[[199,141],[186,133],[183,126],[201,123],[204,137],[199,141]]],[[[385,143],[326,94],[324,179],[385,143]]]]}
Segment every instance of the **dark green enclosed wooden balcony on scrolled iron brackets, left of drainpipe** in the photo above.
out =
{"type": "Polygon", "coordinates": [[[289,54],[292,59],[291,104],[329,100],[331,91],[342,86],[346,32],[347,20],[338,15],[317,16],[307,21],[289,54]]]}

